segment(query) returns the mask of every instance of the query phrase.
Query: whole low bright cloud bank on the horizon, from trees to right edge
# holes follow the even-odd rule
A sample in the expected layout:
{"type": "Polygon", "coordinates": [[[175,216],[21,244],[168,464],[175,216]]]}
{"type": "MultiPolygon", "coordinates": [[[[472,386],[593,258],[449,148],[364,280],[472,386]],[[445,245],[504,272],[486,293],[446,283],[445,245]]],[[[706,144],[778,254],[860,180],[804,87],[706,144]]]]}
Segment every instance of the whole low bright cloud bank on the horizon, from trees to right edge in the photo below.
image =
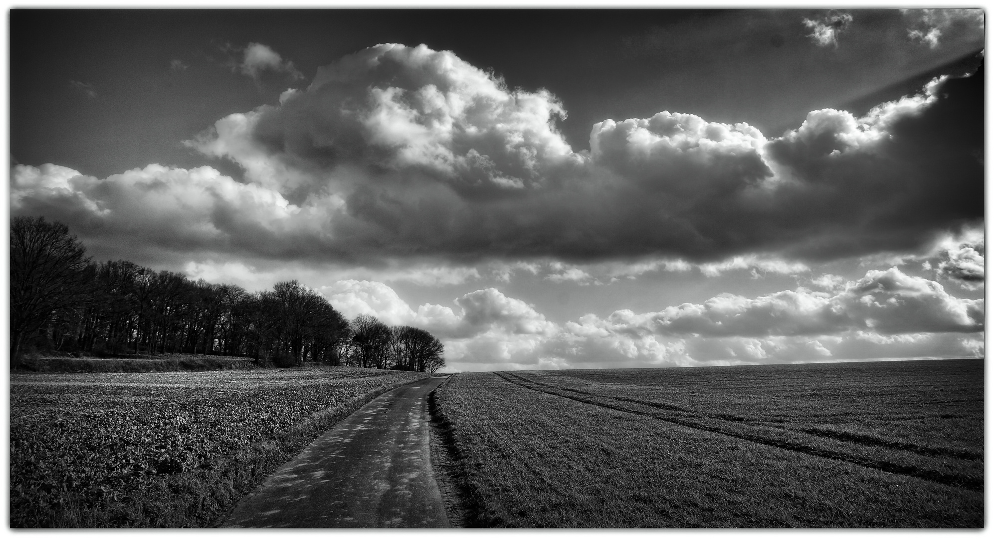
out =
{"type": "Polygon", "coordinates": [[[983,354],[983,299],[959,299],[898,269],[816,279],[758,297],[721,294],[659,311],[585,314],[564,324],[485,288],[415,310],[382,282],[321,288],[347,316],[438,335],[454,370],[664,367],[983,354]]]}

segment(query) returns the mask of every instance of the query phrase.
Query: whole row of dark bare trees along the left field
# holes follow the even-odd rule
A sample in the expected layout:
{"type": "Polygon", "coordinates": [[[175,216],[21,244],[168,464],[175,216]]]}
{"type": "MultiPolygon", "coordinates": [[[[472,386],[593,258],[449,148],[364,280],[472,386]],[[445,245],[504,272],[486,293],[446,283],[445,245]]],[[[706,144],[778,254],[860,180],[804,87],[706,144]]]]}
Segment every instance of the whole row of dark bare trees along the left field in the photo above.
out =
{"type": "Polygon", "coordinates": [[[98,356],[158,353],[313,361],[434,372],[443,346],[411,326],[346,319],[296,280],[249,292],[127,261],[93,263],[69,228],[16,217],[10,231],[11,366],[27,349],[98,356]]]}

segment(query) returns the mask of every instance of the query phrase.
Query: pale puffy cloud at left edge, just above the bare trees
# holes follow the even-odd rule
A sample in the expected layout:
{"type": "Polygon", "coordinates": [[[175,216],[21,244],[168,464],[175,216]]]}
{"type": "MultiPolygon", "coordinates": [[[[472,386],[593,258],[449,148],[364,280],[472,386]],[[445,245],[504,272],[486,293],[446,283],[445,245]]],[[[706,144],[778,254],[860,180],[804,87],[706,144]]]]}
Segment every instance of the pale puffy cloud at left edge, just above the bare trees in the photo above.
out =
{"type": "Polygon", "coordinates": [[[211,167],[157,164],[103,180],[57,165],[15,165],[11,213],[48,216],[69,225],[87,249],[138,261],[176,253],[305,259],[324,219],[211,167]]]}

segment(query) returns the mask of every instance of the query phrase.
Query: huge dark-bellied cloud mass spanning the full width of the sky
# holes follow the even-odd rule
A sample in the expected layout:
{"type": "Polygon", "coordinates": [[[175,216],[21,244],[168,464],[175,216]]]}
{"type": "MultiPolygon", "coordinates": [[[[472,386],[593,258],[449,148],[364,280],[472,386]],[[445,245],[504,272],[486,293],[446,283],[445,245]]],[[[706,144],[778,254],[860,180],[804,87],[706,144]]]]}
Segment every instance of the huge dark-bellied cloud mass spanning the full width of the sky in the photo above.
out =
{"type": "Polygon", "coordinates": [[[689,113],[604,120],[575,152],[550,92],[512,90],[452,53],[382,45],[189,142],[238,163],[246,183],[206,167],[98,180],[19,166],[12,209],[275,259],[911,251],[983,218],[982,89],[981,73],[863,117],[817,110],[774,139],[689,113]]]}

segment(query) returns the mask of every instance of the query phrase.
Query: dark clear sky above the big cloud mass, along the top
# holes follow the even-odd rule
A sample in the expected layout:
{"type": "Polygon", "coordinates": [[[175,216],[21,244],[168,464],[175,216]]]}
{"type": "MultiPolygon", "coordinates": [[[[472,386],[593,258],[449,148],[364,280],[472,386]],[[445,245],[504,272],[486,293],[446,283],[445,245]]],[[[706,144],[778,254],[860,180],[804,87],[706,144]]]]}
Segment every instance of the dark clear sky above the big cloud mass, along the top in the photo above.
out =
{"type": "Polygon", "coordinates": [[[934,51],[894,47],[901,14],[860,13],[840,49],[811,47],[799,21],[819,12],[798,10],[14,9],[11,154],[15,163],[57,162],[100,177],[149,162],[204,164],[180,141],[379,43],[450,50],[512,88],[551,90],[565,104],[561,128],[576,150],[588,148],[594,122],[660,110],[776,135],[810,110],[982,46],[947,37],[934,51]],[[238,54],[224,49],[249,42],[271,47],[304,78],[256,83],[233,73],[226,63],[238,54]],[[188,68],[170,69],[174,60],[188,68]]]}

